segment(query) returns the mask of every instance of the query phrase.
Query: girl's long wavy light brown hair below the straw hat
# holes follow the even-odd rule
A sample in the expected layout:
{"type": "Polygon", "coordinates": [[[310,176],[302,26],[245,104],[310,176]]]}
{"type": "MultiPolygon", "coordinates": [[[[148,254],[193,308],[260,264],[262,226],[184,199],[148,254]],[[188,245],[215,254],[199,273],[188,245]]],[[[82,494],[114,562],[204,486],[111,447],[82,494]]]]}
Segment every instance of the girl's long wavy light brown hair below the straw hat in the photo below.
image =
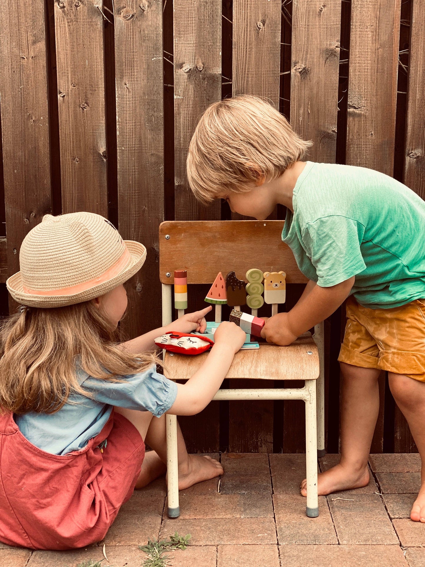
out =
{"type": "Polygon", "coordinates": [[[132,354],[94,302],[42,309],[23,307],[0,328],[0,408],[18,414],[57,412],[78,383],[76,363],[94,378],[117,381],[160,363],[132,354]]]}

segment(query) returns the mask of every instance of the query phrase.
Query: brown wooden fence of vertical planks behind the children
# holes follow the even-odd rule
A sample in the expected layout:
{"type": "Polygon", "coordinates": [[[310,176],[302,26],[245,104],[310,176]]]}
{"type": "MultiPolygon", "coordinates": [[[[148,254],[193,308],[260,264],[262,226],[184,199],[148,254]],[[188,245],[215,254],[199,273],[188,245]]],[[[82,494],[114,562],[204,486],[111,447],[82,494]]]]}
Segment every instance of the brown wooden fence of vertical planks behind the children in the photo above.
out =
{"type": "MultiPolygon", "coordinates": [[[[273,101],[301,136],[314,141],[310,159],[371,167],[425,197],[422,4],[0,3],[2,314],[8,311],[4,282],[19,269],[28,230],[45,213],[90,210],[148,249],[144,268],[129,282],[133,308],[125,331],[134,336],[158,326],[159,223],[231,218],[227,204],[197,204],[185,158],[203,110],[232,94],[273,101]]],[[[283,215],[279,207],[274,218],[283,215]]],[[[191,289],[189,307],[201,307],[205,292],[191,289]]],[[[300,293],[297,286],[288,290],[286,308],[300,293]]],[[[341,309],[326,321],[329,452],[338,451],[343,322],[341,309]]],[[[372,451],[415,451],[384,373],[380,393],[372,451]]],[[[192,451],[303,452],[297,404],[214,402],[181,423],[192,451]]]]}

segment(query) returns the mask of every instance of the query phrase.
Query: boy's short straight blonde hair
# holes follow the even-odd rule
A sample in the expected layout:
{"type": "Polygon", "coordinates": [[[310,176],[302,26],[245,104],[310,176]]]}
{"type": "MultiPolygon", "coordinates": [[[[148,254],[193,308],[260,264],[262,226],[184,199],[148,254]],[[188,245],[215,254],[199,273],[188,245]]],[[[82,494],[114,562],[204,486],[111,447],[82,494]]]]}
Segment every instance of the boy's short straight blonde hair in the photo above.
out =
{"type": "Polygon", "coordinates": [[[206,109],[190,141],[190,188],[203,204],[220,193],[250,191],[261,178],[281,176],[311,145],[266,101],[249,95],[221,100],[206,109]]]}

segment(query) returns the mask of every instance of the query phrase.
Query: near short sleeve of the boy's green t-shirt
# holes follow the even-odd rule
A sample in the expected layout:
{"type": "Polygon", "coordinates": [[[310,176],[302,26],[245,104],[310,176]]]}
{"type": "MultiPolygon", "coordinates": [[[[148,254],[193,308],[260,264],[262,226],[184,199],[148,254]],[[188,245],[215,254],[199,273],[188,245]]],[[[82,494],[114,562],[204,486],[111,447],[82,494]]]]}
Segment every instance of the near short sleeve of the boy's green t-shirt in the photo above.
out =
{"type": "Polygon", "coordinates": [[[360,252],[363,235],[361,223],[338,215],[307,224],[303,243],[316,268],[318,286],[340,284],[366,269],[360,252]]]}

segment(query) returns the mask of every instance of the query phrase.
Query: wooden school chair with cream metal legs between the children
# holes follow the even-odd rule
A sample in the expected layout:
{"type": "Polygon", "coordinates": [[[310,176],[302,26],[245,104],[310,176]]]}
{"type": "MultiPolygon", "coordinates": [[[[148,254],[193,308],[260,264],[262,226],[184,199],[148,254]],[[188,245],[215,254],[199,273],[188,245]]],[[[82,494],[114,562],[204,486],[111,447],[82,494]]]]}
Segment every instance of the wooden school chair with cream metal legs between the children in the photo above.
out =
{"type": "MultiPolygon", "coordinates": [[[[185,269],[188,285],[211,284],[217,273],[235,270],[242,278],[250,268],[284,270],[288,284],[306,283],[291,249],[281,240],[284,221],[169,221],[159,227],[159,272],[162,282],[163,325],[172,321],[174,270],[185,269]]],[[[202,306],[199,306],[201,308],[202,306]]],[[[305,333],[289,346],[260,344],[260,350],[236,353],[226,378],[305,380],[302,388],[219,390],[214,400],[304,400],[308,517],[318,516],[317,456],[324,446],[324,330],[305,333]],[[316,380],[318,392],[316,399],[316,380]],[[316,426],[317,403],[317,426],[316,426]]],[[[207,353],[196,357],[167,352],[164,374],[188,379],[207,353]]],[[[177,472],[177,420],[167,415],[168,516],[180,515],[177,472]]]]}

